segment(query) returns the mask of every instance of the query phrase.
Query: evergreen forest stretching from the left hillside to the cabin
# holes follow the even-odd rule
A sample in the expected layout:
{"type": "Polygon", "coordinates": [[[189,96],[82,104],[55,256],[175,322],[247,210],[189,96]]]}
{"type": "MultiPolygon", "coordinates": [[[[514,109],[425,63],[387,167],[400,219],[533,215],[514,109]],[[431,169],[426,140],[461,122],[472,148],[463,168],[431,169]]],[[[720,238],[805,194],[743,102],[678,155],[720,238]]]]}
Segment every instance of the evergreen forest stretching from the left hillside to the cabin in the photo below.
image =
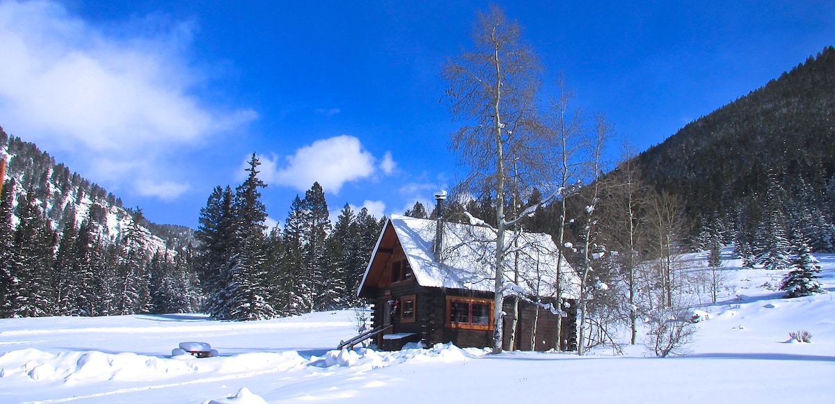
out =
{"type": "Polygon", "coordinates": [[[350,205],[331,225],[321,186],[265,229],[249,177],[217,187],[200,228],[157,225],[139,208],[0,129],[0,318],[205,311],[248,320],[357,305],[382,220],[350,205]]]}

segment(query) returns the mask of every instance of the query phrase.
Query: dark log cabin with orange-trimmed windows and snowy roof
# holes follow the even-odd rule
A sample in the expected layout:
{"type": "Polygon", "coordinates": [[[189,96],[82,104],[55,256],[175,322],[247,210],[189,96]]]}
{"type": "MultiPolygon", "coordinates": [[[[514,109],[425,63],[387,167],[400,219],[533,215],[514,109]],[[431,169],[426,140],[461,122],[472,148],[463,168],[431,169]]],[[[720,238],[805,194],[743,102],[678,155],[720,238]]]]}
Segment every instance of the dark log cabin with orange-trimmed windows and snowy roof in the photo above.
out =
{"type": "MultiPolygon", "coordinates": [[[[440,201],[439,201],[440,202],[440,201]]],[[[511,349],[514,298],[519,301],[514,350],[573,350],[579,280],[565,261],[557,288],[557,249],[549,235],[508,232],[504,349],[511,349]],[[562,332],[556,336],[557,321],[562,332]],[[559,345],[558,345],[559,344],[559,345]]],[[[443,220],[392,215],[372,252],[357,295],[372,305],[377,347],[493,346],[493,230],[443,220]]]]}

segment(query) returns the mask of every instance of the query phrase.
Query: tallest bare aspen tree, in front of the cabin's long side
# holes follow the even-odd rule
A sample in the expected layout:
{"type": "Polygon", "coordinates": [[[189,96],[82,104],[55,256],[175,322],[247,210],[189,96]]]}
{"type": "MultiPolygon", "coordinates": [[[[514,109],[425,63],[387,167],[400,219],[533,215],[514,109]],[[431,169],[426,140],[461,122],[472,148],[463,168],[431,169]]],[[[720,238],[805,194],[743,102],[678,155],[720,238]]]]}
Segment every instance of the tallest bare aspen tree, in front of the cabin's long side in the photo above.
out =
{"type": "MultiPolygon", "coordinates": [[[[512,165],[517,165],[519,188],[548,184],[554,164],[549,139],[536,130],[534,101],[539,87],[539,58],[520,39],[519,23],[511,22],[496,6],[478,13],[471,38],[473,49],[448,58],[442,76],[453,117],[466,124],[451,135],[449,147],[458,164],[467,167],[463,188],[491,189],[496,201],[495,227],[468,215],[473,225],[490,227],[495,235],[495,298],[493,300],[493,352],[502,351],[504,324],[505,230],[539,205],[505,215],[512,165]]],[[[491,220],[492,221],[492,220],[491,220]]]]}

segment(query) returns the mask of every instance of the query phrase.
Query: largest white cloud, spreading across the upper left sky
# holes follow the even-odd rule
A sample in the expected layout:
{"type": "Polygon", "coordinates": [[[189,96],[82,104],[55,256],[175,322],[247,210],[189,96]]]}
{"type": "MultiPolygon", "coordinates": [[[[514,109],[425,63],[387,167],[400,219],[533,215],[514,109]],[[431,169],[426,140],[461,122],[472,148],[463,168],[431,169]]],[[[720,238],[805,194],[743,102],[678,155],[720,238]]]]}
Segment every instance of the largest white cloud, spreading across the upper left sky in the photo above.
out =
{"type": "Polygon", "coordinates": [[[122,177],[124,185],[174,198],[187,186],[167,179],[170,150],[257,114],[213,109],[190,94],[205,82],[183,56],[194,28],[157,27],[140,22],[134,33],[108,36],[57,3],[0,3],[0,122],[41,149],[72,152],[95,175],[124,173],[105,169],[113,161],[154,164],[122,177]]]}

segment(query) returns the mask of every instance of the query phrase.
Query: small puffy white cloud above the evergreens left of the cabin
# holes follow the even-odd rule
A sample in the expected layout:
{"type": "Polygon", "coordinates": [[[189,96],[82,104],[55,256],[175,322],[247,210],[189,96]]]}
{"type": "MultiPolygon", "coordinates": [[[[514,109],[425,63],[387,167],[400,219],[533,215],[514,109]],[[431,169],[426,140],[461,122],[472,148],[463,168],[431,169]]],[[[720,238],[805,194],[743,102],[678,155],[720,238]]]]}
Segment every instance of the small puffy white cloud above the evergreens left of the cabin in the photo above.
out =
{"type": "Polygon", "coordinates": [[[275,155],[259,158],[261,179],[299,190],[310,189],[318,181],[326,192],[339,194],[346,182],[374,173],[374,156],[362,148],[359,139],[348,135],[316,140],[285,159],[286,166],[280,167],[275,155]]]}

